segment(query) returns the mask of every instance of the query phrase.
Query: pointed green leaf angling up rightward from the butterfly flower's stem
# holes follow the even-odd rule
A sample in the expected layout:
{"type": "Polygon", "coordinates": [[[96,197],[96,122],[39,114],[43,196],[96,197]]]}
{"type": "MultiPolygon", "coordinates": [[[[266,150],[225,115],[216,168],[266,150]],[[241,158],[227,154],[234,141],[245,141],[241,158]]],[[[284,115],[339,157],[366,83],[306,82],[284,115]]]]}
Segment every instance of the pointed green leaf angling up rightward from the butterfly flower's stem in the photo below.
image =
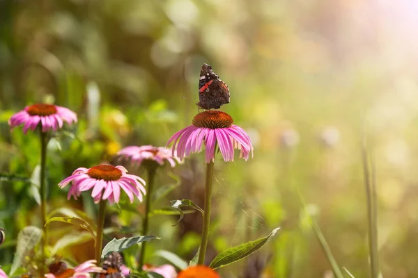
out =
{"type": "Polygon", "coordinates": [[[222,268],[225,265],[235,263],[235,261],[240,261],[246,256],[256,252],[258,249],[263,247],[268,240],[274,236],[280,228],[274,229],[268,236],[264,238],[258,238],[254,241],[249,241],[248,243],[242,243],[241,245],[231,247],[228,250],[218,254],[209,267],[212,269],[222,268]]]}

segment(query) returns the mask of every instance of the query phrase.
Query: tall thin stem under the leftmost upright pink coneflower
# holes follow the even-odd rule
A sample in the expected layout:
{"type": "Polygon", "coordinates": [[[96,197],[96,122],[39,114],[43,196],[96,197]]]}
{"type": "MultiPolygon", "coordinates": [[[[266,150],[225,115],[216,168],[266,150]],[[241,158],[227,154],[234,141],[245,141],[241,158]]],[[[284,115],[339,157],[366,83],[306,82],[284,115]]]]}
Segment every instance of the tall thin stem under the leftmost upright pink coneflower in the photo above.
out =
{"type": "MultiPolygon", "coordinates": [[[[42,264],[45,263],[45,248],[48,242],[47,227],[45,223],[47,222],[47,193],[45,189],[45,176],[47,170],[47,145],[48,145],[48,136],[47,133],[40,131],[40,181],[39,181],[39,195],[40,195],[40,220],[42,224],[42,243],[40,248],[40,258],[42,264]]],[[[44,276],[43,265],[40,266],[40,276],[44,276]]]]}

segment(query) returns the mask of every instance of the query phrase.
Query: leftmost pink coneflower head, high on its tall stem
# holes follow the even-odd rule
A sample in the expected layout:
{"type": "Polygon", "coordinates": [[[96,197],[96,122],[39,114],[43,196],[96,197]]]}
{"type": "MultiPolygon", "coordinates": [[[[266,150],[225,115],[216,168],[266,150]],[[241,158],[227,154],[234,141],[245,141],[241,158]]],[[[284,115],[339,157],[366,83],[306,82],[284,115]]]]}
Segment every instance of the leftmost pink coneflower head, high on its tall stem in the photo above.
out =
{"type": "Polygon", "coordinates": [[[10,117],[8,124],[12,129],[24,124],[23,133],[26,134],[28,129],[35,130],[38,124],[42,126],[42,132],[51,129],[56,131],[63,127],[63,122],[68,122],[68,124],[77,122],[77,115],[65,107],[52,104],[33,104],[10,117]]]}

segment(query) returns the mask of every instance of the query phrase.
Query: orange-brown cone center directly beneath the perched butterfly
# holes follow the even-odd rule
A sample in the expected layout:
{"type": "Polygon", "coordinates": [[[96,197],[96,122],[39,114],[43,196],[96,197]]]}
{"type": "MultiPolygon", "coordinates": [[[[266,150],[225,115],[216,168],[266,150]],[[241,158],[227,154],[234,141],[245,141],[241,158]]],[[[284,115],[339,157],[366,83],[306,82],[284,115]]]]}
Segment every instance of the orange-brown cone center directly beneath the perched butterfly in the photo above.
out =
{"type": "Polygon", "coordinates": [[[224,129],[231,127],[233,119],[222,111],[209,110],[194,116],[192,124],[197,127],[207,127],[208,129],[224,129]]]}

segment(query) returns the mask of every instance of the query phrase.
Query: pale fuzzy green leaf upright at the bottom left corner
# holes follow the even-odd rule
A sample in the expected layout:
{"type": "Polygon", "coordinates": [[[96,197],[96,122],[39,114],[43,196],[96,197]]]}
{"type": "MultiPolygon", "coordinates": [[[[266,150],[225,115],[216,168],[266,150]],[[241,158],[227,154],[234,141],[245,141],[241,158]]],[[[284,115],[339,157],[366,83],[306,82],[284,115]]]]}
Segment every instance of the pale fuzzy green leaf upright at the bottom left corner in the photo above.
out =
{"type": "Polygon", "coordinates": [[[11,277],[15,271],[20,268],[24,256],[38,244],[42,238],[42,230],[35,226],[27,226],[17,235],[17,247],[15,258],[13,259],[12,268],[9,276],[11,277]]]}

